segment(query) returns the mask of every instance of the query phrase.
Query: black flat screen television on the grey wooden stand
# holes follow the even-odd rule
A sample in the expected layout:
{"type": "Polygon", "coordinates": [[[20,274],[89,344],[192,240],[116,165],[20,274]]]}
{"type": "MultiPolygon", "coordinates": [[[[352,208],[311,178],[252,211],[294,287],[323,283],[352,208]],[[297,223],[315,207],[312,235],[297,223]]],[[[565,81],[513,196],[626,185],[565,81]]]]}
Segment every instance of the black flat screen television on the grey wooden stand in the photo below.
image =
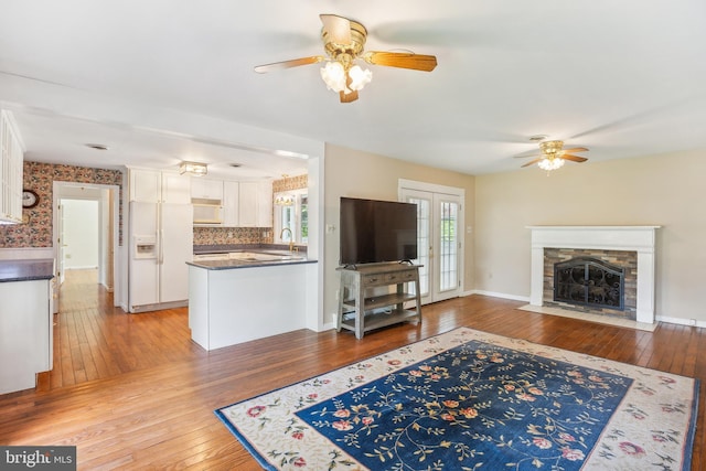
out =
{"type": "Polygon", "coordinates": [[[343,266],[417,258],[417,205],[341,197],[343,266]]]}

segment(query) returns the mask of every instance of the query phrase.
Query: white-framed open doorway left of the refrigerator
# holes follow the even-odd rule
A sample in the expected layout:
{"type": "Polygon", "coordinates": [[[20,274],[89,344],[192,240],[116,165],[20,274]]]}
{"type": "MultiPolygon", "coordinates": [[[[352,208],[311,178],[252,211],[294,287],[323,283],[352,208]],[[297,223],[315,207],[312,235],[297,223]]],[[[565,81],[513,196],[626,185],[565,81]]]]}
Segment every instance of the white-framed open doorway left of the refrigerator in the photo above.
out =
{"type": "Polygon", "coordinates": [[[97,285],[115,290],[118,191],[116,185],[54,182],[55,311],[67,270],[93,269],[97,285]]]}

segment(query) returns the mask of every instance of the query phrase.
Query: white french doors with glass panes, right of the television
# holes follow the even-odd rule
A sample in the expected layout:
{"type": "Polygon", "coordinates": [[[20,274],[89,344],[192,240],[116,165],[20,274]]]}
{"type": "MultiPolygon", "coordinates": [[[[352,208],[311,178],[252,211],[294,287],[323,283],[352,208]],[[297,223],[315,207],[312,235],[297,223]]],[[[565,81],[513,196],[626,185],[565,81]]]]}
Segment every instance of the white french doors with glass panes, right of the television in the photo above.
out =
{"type": "Polygon", "coordinates": [[[417,259],[421,303],[461,293],[462,194],[402,186],[400,199],[417,204],[417,259]]]}

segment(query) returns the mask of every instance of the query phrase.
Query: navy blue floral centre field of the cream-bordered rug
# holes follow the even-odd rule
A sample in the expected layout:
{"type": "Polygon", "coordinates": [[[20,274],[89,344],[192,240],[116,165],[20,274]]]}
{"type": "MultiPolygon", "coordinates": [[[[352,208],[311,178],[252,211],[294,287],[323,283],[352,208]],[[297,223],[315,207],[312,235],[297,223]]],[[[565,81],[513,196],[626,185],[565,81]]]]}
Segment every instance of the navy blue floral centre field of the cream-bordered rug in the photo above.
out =
{"type": "Polygon", "coordinates": [[[297,416],[374,470],[579,470],[632,384],[471,341],[297,416]]]}

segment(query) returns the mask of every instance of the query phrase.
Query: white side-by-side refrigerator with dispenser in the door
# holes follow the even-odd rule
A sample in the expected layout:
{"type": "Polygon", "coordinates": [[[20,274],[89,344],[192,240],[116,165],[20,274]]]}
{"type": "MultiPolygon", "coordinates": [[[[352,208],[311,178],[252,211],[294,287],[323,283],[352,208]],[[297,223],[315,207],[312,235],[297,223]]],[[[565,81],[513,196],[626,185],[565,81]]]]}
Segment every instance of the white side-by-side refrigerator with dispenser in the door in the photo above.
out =
{"type": "Polygon", "coordinates": [[[130,312],[186,306],[192,217],[190,204],[130,203],[130,312]]]}

